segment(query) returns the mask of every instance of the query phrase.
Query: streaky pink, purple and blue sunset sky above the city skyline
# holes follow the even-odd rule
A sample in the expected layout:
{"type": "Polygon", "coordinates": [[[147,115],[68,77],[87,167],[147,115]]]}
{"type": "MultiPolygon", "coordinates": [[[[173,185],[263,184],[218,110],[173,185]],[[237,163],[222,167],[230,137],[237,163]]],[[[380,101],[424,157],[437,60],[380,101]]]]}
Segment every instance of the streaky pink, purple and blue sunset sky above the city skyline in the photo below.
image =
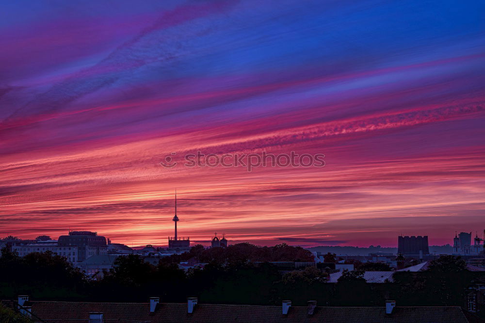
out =
{"type": "Polygon", "coordinates": [[[9,1],[0,237],[452,243],[485,229],[482,1],[9,1]],[[481,2],[481,3],[480,3],[481,2]],[[324,167],[183,156],[325,155],[324,167]],[[171,155],[171,153],[176,153],[171,155]],[[165,156],[178,165],[164,168],[165,156]]]}

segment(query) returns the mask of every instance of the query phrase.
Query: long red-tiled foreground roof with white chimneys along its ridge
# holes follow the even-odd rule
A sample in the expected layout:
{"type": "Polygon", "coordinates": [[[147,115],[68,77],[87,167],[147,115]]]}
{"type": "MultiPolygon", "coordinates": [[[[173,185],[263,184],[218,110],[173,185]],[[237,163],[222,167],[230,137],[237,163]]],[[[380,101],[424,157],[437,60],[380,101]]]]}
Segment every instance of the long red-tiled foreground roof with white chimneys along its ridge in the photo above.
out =
{"type": "MultiPolygon", "coordinates": [[[[19,296],[20,311],[30,315],[33,322],[55,323],[483,323],[479,317],[461,307],[292,307],[290,301],[282,306],[209,305],[197,304],[196,298],[187,303],[84,303],[29,302],[19,296]]],[[[17,302],[4,301],[18,307],[17,302]]]]}

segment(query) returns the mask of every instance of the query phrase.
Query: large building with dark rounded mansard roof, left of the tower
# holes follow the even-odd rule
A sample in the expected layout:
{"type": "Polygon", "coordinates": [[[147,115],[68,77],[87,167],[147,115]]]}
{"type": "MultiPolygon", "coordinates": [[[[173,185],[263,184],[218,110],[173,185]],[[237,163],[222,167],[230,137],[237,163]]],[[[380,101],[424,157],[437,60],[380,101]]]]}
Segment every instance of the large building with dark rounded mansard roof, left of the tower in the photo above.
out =
{"type": "Polygon", "coordinates": [[[98,236],[97,232],[69,231],[67,236],[60,236],[57,243],[59,247],[77,246],[78,261],[84,261],[91,256],[108,254],[106,238],[98,236]]]}

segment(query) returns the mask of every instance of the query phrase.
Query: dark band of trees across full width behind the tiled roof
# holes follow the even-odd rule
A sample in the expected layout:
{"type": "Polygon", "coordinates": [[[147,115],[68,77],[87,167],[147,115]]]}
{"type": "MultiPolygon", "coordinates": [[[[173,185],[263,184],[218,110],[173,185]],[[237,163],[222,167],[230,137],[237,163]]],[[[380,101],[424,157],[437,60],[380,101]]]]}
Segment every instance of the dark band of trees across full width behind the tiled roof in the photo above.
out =
{"type": "MultiPolygon", "coordinates": [[[[241,246],[246,247],[252,249],[241,246]]],[[[325,282],[326,273],[315,267],[281,274],[270,263],[256,266],[249,261],[251,252],[242,256],[227,253],[230,250],[239,249],[221,248],[217,257],[205,259],[210,261],[204,269],[188,272],[178,268],[175,256],[172,261],[164,258],[157,266],[137,255],[118,257],[113,270],[93,281],[63,257],[32,253],[20,258],[4,249],[0,298],[29,294],[36,300],[146,302],[148,297],[158,296],[162,302],[185,302],[187,297],[199,297],[203,303],[253,305],[280,305],[283,299],[290,299],[294,306],[304,306],[310,299],[320,306],[383,306],[386,299],[393,299],[399,306],[464,306],[471,283],[485,282],[482,272],[467,271],[465,262],[453,256],[433,261],[425,272],[397,272],[394,282],[368,284],[363,271],[355,270],[330,284],[325,282]]],[[[180,255],[206,256],[200,248],[180,255]]]]}

